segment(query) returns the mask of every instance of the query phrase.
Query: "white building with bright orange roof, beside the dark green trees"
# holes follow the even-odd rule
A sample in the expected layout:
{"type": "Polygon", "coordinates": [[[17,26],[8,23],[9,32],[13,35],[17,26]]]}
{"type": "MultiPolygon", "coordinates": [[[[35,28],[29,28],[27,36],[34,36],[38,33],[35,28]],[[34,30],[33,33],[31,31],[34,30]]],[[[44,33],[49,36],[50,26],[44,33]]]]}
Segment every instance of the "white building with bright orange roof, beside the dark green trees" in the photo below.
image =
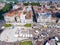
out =
{"type": "Polygon", "coordinates": [[[6,22],[18,22],[20,17],[19,10],[12,10],[4,15],[6,22]]]}

